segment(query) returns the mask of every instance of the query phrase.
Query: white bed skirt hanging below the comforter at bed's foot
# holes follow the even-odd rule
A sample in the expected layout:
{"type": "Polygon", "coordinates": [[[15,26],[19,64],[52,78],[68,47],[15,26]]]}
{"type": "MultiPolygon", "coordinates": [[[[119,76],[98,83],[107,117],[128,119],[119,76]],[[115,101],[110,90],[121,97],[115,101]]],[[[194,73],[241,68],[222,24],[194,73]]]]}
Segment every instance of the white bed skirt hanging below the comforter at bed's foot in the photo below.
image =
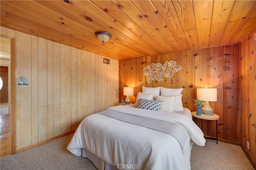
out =
{"type": "Polygon", "coordinates": [[[86,149],[82,150],[82,157],[88,158],[90,161],[92,161],[92,163],[96,166],[96,168],[98,168],[98,170],[119,170],[116,166],[105,162],[104,160],[100,159],[98,156],[95,156],[86,149]]]}

